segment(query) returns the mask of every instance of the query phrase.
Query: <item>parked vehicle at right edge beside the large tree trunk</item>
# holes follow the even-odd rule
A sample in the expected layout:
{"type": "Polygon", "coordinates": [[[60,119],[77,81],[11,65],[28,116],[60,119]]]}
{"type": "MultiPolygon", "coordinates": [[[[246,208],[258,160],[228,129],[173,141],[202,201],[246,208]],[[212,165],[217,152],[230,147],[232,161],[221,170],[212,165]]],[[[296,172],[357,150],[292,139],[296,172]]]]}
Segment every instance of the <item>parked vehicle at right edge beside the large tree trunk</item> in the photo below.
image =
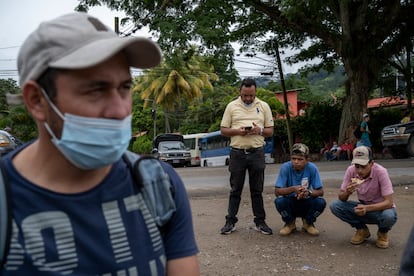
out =
{"type": "Polygon", "coordinates": [[[414,157],[414,121],[384,127],[381,142],[394,158],[414,157]]]}

